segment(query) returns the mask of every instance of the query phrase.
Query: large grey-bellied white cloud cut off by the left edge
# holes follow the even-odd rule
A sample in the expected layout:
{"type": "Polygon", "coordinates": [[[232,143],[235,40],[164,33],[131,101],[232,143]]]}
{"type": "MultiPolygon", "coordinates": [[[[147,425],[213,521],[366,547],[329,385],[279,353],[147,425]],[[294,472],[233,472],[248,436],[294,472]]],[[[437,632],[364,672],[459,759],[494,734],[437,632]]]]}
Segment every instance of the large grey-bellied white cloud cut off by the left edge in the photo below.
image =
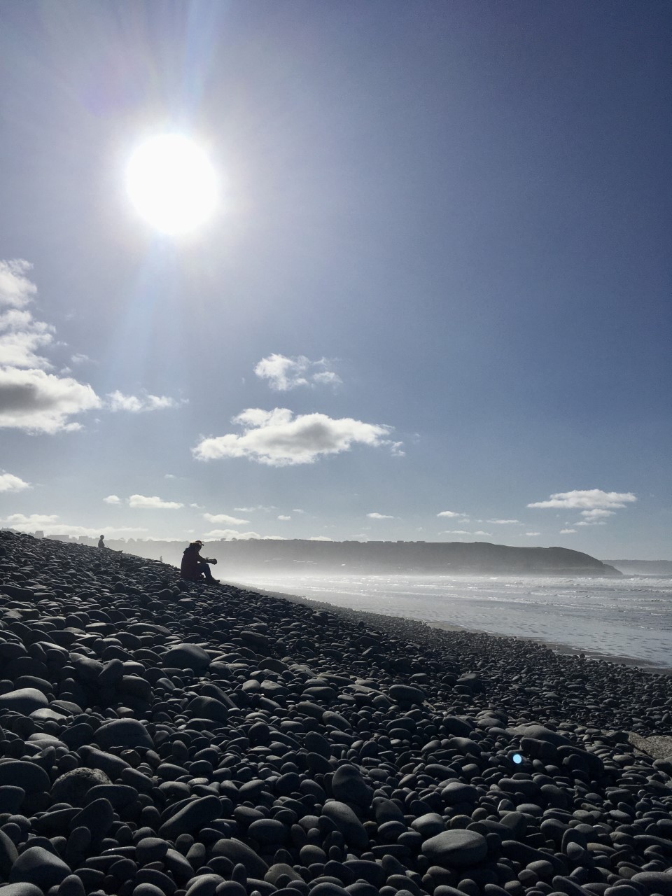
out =
{"type": "Polygon", "coordinates": [[[81,425],[68,422],[69,417],[99,407],[99,397],[90,385],[70,377],[15,366],[0,368],[0,426],[29,433],[71,431],[81,425]]]}

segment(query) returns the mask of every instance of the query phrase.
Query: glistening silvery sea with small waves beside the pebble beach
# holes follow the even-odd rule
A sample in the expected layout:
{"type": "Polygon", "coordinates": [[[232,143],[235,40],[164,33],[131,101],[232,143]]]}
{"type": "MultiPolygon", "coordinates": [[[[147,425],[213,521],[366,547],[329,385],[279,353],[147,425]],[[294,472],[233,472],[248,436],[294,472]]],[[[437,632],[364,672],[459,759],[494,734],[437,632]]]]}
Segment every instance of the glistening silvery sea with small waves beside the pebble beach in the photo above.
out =
{"type": "Polygon", "coordinates": [[[230,581],[672,671],[672,578],[250,573],[230,581]]]}

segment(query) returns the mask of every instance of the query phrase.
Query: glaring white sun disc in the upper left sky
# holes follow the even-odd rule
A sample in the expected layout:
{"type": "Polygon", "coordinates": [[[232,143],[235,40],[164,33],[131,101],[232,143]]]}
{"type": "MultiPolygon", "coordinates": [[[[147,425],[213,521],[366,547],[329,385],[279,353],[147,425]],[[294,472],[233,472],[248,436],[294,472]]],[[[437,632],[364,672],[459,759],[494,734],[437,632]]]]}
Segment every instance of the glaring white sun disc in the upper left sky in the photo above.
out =
{"type": "Polygon", "coordinates": [[[182,134],[143,142],[126,168],[126,191],[138,213],[166,234],[193,230],[211,217],[217,178],[210,159],[182,134]]]}

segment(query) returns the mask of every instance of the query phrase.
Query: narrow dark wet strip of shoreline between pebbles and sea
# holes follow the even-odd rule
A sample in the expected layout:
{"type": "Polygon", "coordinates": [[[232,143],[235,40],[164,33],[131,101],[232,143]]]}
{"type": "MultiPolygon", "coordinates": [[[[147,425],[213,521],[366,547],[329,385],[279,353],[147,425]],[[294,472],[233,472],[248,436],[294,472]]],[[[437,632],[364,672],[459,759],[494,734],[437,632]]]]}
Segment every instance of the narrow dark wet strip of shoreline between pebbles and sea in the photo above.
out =
{"type": "MultiPolygon", "coordinates": [[[[246,588],[249,589],[252,586],[247,584],[242,584],[240,582],[222,582],[222,585],[229,584],[234,588],[246,588]]],[[[363,619],[375,619],[375,620],[395,620],[403,623],[416,623],[418,625],[426,625],[429,628],[439,629],[444,632],[461,632],[465,634],[473,634],[473,635],[487,635],[490,638],[499,638],[504,641],[509,642],[530,642],[531,644],[537,644],[541,647],[546,647],[548,650],[552,650],[554,653],[559,653],[563,656],[577,657],[582,659],[589,659],[593,662],[608,662],[614,663],[617,666],[625,666],[627,668],[640,668],[643,672],[648,672],[651,675],[660,675],[660,676],[672,676],[672,666],[659,666],[656,663],[650,662],[646,659],[639,659],[637,657],[625,657],[621,655],[614,655],[610,653],[604,653],[600,650],[584,650],[579,647],[573,647],[571,644],[564,644],[562,642],[556,641],[543,641],[540,638],[534,638],[530,635],[512,635],[512,634],[500,634],[497,632],[487,632],[484,629],[473,629],[466,628],[464,625],[455,625],[454,623],[449,622],[434,622],[429,619],[415,619],[409,616],[392,616],[387,615],[385,613],[372,613],[368,610],[358,610],[354,607],[340,607],[338,604],[329,603],[327,600],[316,600],[313,598],[308,598],[302,594],[289,594],[285,591],[274,591],[262,588],[254,587],[254,591],[257,594],[264,594],[271,598],[280,598],[289,600],[290,603],[302,604],[304,606],[310,607],[319,607],[321,609],[328,609],[329,612],[333,613],[334,616],[342,615],[349,616],[350,614],[357,614],[358,617],[363,619]]]]}

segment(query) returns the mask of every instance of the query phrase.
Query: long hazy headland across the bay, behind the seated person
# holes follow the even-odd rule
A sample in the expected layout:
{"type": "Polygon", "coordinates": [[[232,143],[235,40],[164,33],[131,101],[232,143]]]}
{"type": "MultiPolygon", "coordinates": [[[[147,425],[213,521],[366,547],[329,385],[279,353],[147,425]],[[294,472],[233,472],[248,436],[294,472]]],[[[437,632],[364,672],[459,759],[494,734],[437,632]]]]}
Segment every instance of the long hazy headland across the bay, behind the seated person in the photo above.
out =
{"type": "MultiPolygon", "coordinates": [[[[82,539],[83,540],[83,539],[82,539]]],[[[94,542],[95,543],[95,542],[94,542]]],[[[109,539],[108,547],[163,558],[179,565],[185,543],[109,539]]],[[[203,556],[216,557],[220,578],[233,573],[485,573],[520,575],[620,575],[613,566],[566,547],[507,547],[488,542],[308,541],[251,539],[210,541],[203,556]]]]}

